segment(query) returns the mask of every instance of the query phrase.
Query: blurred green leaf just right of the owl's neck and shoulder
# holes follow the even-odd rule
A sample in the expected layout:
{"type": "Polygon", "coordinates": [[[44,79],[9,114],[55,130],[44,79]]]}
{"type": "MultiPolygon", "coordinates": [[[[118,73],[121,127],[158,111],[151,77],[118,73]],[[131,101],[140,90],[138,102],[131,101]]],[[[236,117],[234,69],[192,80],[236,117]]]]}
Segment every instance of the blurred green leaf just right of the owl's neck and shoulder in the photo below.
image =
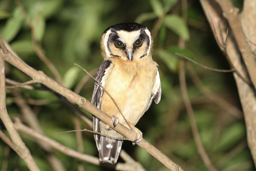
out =
{"type": "Polygon", "coordinates": [[[158,56],[164,61],[164,63],[171,71],[176,71],[178,58],[174,53],[162,50],[158,53],[158,56]]]}

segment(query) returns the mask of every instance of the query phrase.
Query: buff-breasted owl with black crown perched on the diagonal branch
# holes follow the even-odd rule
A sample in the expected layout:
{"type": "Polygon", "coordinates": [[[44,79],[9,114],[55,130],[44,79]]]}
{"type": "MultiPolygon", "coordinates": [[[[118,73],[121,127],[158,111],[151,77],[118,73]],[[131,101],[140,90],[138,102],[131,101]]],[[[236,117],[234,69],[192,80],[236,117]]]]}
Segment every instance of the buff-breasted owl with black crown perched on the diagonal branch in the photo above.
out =
{"type": "MultiPolygon", "coordinates": [[[[126,120],[135,125],[150,107],[159,103],[161,83],[157,63],[152,59],[153,39],[150,31],[138,23],[119,23],[107,28],[101,36],[101,55],[104,59],[96,80],[102,84],[120,108],[126,120]]],[[[130,128],[115,103],[95,82],[91,103],[130,128]]],[[[116,138],[123,135],[93,116],[93,130],[116,138]]],[[[115,164],[123,141],[94,134],[102,163],[115,164]]],[[[140,140],[137,140],[138,143],[140,140]]]]}

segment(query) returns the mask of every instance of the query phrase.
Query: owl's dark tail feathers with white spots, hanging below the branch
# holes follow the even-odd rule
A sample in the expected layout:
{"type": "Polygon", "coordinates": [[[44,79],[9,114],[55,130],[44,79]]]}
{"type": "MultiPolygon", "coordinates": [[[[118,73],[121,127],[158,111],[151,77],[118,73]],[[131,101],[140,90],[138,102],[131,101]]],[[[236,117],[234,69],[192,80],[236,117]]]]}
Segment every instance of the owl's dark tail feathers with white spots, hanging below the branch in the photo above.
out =
{"type": "Polygon", "coordinates": [[[101,136],[99,142],[99,157],[101,163],[116,164],[122,143],[122,140],[101,136]]]}

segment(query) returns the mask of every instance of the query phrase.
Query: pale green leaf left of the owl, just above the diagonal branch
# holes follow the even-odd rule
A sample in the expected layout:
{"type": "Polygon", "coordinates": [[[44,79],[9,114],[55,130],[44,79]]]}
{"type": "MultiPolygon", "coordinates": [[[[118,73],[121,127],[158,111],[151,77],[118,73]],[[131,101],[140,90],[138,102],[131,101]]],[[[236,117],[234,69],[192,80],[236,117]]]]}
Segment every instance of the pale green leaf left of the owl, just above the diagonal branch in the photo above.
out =
{"type": "Polygon", "coordinates": [[[66,88],[71,88],[74,85],[79,71],[81,69],[77,66],[73,66],[67,70],[63,77],[63,83],[66,88]]]}

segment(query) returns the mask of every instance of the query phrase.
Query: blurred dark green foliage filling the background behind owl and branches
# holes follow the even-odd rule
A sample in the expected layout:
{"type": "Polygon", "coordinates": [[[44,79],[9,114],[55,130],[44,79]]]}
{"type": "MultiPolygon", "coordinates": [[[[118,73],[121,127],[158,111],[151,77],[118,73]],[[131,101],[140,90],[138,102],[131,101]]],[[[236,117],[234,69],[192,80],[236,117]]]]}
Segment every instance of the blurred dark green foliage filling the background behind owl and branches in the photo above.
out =
{"type": "MultiPolygon", "coordinates": [[[[147,141],[184,170],[207,169],[197,152],[182,101],[178,77],[180,57],[175,52],[211,68],[229,69],[229,65],[214,40],[199,1],[188,0],[187,23],[180,17],[182,11],[178,0],[22,0],[20,3],[35,26],[34,34],[42,45],[44,54],[60,72],[64,85],[71,90],[86,75],[74,63],[88,71],[98,68],[102,63],[100,38],[107,27],[116,23],[138,22],[147,26],[151,33],[155,31],[153,59],[159,64],[162,98],[158,105],[152,103],[136,127],[143,132],[147,141]],[[178,47],[179,37],[186,40],[185,49],[178,47]]],[[[242,0],[235,1],[235,5],[241,9],[242,0]]],[[[10,43],[22,60],[53,77],[49,68],[34,53],[31,29],[16,3],[10,0],[0,1],[0,19],[0,35],[10,43]]],[[[186,62],[191,64],[190,61],[186,62]]],[[[218,73],[191,65],[207,88],[241,110],[232,73],[218,73]]],[[[31,79],[8,63],[6,77],[18,82],[31,79]]],[[[38,84],[33,86],[41,87],[38,84]]],[[[90,101],[93,86],[94,81],[89,79],[80,95],[90,101]]],[[[219,170],[255,170],[246,145],[244,120],[235,118],[209,100],[195,87],[189,74],[187,87],[202,143],[214,166],[219,170]]],[[[20,109],[14,103],[13,91],[7,90],[8,113],[11,117],[22,117],[20,109]]],[[[48,137],[67,147],[77,148],[75,133],[55,134],[74,129],[72,109],[45,90],[17,88],[16,91],[27,100],[48,137]],[[31,100],[45,100],[47,104],[34,104],[31,100]]],[[[90,113],[84,112],[91,118],[90,113]]],[[[82,128],[91,129],[82,121],[81,123],[82,128]]],[[[27,135],[21,135],[39,168],[42,171],[52,170],[46,159],[47,154],[27,135]]],[[[84,153],[98,156],[93,134],[83,133],[83,146],[84,153]]],[[[5,148],[6,144],[0,141],[0,168],[2,161],[7,159],[7,170],[27,170],[22,159],[12,150],[6,157],[3,153],[5,148]]],[[[139,146],[132,147],[131,142],[125,141],[122,148],[146,170],[168,170],[139,146]]],[[[79,161],[57,151],[54,154],[66,170],[77,170],[79,161]]],[[[122,162],[122,159],[119,161],[122,162]]],[[[106,170],[90,163],[82,163],[85,170],[106,170]]]]}

